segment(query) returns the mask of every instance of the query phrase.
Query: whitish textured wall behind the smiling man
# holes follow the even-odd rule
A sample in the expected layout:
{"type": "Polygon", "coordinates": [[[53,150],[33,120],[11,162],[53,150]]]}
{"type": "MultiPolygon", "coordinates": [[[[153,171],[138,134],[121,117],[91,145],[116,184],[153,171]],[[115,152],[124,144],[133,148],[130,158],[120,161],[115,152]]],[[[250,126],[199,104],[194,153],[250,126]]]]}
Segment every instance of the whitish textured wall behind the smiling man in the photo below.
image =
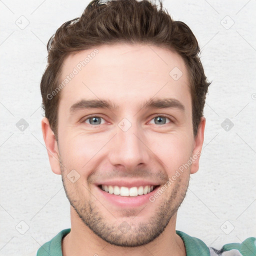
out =
{"type": "MultiPolygon", "coordinates": [[[[69,202],[42,138],[39,82],[49,37],[88,2],[0,0],[0,255],[28,255],[70,227],[69,202]],[[28,123],[23,131],[16,126],[21,118],[28,123]]],[[[200,167],[176,229],[220,248],[256,230],[256,1],[163,4],[194,32],[212,80],[200,167]],[[229,131],[221,126],[226,118],[233,123],[229,131]]]]}

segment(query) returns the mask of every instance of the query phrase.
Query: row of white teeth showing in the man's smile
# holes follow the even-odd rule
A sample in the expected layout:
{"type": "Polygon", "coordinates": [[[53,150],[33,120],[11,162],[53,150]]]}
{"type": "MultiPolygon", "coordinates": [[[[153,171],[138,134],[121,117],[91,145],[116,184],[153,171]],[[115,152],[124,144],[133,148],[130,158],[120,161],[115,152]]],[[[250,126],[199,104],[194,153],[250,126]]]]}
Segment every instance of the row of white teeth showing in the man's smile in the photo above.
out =
{"type": "Polygon", "coordinates": [[[142,195],[142,194],[147,194],[150,193],[153,190],[154,186],[153,185],[146,185],[144,186],[133,186],[133,187],[126,187],[126,186],[111,186],[111,185],[101,185],[101,189],[110,193],[110,194],[115,194],[115,195],[120,195],[120,196],[137,196],[137,195],[142,195]]]}

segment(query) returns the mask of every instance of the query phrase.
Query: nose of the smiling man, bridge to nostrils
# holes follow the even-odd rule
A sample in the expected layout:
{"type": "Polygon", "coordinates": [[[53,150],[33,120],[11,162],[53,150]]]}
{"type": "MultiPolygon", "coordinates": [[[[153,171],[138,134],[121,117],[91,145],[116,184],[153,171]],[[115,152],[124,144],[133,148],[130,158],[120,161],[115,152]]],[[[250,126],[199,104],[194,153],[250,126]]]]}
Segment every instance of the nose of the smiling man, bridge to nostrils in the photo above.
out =
{"type": "Polygon", "coordinates": [[[112,139],[109,153],[110,163],[126,171],[133,171],[139,164],[147,165],[152,152],[146,145],[143,130],[135,124],[132,124],[126,131],[120,127],[116,127],[116,135],[112,139]]]}

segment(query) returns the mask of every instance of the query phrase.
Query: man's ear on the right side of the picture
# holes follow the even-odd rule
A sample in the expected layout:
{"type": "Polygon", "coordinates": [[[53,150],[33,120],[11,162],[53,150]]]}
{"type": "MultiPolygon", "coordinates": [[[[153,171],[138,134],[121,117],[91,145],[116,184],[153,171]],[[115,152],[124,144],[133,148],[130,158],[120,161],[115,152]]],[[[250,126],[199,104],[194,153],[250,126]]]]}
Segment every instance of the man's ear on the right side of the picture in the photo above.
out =
{"type": "Polygon", "coordinates": [[[199,123],[197,134],[194,138],[194,147],[192,152],[192,164],[190,168],[190,173],[195,173],[199,169],[199,158],[202,150],[202,143],[204,138],[204,127],[205,127],[205,117],[201,117],[201,121],[199,123]]]}

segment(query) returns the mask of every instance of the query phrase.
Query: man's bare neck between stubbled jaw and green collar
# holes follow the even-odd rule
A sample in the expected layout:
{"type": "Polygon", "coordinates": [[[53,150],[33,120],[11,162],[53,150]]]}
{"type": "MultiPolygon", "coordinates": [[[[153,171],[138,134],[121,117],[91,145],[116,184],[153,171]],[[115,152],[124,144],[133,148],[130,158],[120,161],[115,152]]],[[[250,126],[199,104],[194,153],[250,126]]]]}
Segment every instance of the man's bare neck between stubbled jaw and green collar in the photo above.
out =
{"type": "Polygon", "coordinates": [[[70,207],[71,230],[62,239],[63,256],[124,255],[124,256],[185,256],[185,246],[176,234],[176,213],[163,232],[151,242],[137,247],[121,247],[110,244],[93,233],[70,207]]]}

